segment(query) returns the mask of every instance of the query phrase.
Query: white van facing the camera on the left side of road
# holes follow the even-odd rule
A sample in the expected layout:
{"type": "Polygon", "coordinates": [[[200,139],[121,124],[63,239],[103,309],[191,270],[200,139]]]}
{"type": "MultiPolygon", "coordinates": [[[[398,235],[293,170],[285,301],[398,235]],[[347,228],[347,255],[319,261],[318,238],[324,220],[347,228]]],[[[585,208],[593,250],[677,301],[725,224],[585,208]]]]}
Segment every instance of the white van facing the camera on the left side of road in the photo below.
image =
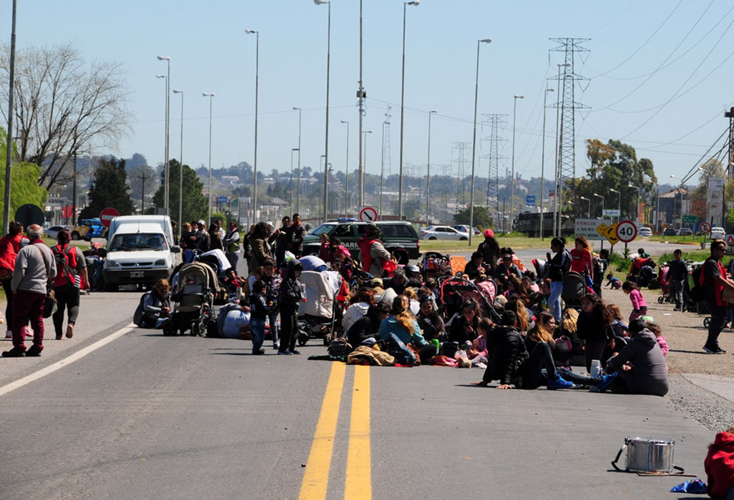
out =
{"type": "Polygon", "coordinates": [[[150,286],[161,278],[168,278],[178,251],[179,247],[171,245],[161,224],[156,222],[117,224],[114,233],[110,225],[103,265],[105,290],[115,291],[120,284],[150,286]]]}

